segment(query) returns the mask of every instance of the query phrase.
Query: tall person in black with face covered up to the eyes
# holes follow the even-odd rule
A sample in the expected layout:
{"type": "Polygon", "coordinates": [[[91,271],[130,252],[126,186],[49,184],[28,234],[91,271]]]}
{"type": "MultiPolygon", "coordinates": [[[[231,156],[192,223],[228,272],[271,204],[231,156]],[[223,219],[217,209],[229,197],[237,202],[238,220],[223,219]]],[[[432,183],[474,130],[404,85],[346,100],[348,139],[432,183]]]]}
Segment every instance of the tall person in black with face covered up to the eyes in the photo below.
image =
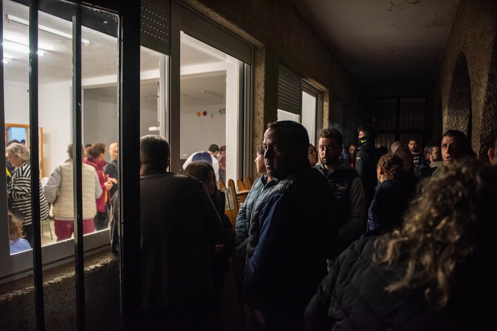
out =
{"type": "MultiPolygon", "coordinates": [[[[372,125],[362,125],[357,129],[359,132],[359,147],[361,150],[355,158],[355,169],[361,177],[364,187],[364,205],[369,208],[373,200],[375,187],[378,184],[376,178],[376,163],[380,159],[380,154],[375,146],[376,129],[372,125]]],[[[367,212],[365,210],[365,212],[367,212]]]]}

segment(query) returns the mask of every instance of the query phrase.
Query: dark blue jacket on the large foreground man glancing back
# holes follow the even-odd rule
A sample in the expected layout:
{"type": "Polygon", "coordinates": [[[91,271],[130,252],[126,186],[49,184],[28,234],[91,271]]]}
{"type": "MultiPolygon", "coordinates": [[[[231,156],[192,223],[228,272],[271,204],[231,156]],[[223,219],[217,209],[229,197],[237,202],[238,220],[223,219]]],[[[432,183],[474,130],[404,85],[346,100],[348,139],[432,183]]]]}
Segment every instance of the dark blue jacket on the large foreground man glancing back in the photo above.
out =
{"type": "Polygon", "coordinates": [[[336,234],[322,205],[331,199],[330,184],[308,162],[264,199],[257,218],[259,240],[253,255],[247,251],[243,289],[248,305],[303,315],[327,273],[336,234]]]}

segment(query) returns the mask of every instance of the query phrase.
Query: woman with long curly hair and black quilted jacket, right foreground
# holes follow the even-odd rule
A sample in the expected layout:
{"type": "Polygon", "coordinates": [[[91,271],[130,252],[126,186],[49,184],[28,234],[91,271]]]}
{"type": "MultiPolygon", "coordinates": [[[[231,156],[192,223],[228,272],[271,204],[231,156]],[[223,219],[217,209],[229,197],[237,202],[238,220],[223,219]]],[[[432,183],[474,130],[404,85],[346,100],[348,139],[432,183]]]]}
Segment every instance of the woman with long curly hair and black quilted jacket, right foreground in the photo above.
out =
{"type": "Polygon", "coordinates": [[[495,328],[496,204],[497,168],[476,160],[444,167],[424,182],[402,229],[340,255],[307,307],[307,326],[495,328]]]}

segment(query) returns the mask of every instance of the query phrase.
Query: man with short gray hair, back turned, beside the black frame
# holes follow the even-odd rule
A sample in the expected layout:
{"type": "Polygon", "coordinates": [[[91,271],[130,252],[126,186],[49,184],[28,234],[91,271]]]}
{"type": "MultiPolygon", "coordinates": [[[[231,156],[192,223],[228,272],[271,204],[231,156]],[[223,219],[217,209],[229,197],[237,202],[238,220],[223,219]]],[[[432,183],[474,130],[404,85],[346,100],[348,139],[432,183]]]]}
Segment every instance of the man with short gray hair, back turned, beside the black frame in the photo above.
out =
{"type": "MultiPolygon", "coordinates": [[[[210,259],[223,226],[204,184],[188,175],[167,172],[169,163],[165,138],[148,135],[140,139],[137,207],[144,329],[208,329],[213,286],[210,259]]],[[[118,193],[112,207],[111,246],[115,249],[118,193]]]]}

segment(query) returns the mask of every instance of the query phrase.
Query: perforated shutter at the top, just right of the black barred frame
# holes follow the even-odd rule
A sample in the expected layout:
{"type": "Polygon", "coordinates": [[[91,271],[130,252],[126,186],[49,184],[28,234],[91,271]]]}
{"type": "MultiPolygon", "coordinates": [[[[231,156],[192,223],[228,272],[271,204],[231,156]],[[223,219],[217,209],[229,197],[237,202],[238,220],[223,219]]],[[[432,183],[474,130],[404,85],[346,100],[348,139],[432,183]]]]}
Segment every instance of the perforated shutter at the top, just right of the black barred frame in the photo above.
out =
{"type": "Polygon", "coordinates": [[[142,0],[141,43],[157,52],[170,54],[171,10],[169,1],[142,0]]]}

